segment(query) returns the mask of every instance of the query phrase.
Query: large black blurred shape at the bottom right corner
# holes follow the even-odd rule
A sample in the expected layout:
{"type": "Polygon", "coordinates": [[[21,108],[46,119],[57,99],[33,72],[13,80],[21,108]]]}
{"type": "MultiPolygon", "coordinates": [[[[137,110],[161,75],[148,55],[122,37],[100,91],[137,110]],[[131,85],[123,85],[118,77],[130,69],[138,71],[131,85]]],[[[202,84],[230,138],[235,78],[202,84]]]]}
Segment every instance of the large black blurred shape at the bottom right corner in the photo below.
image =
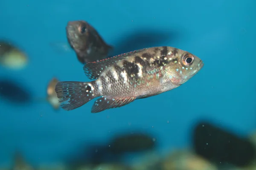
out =
{"type": "Polygon", "coordinates": [[[199,123],[193,134],[195,152],[218,165],[233,164],[243,167],[256,156],[256,150],[247,139],[239,138],[208,122],[199,123]]]}

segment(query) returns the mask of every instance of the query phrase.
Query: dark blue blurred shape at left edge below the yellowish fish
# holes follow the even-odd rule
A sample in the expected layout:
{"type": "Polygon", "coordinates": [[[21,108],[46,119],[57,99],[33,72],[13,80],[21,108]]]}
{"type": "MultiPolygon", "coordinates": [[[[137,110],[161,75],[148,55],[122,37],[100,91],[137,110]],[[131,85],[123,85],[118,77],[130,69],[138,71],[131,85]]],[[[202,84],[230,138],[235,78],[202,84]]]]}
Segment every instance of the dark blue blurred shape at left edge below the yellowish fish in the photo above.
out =
{"type": "Polygon", "coordinates": [[[0,78],[0,98],[15,104],[31,101],[31,95],[20,82],[7,78],[0,78]]]}

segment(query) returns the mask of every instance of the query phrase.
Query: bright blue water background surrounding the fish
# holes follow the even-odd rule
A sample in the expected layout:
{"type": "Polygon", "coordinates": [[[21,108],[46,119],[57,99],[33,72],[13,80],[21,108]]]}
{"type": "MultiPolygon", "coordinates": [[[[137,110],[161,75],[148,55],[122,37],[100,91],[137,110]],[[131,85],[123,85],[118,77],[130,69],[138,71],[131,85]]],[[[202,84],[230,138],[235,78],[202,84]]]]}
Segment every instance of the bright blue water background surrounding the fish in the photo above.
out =
{"type": "MultiPolygon", "coordinates": [[[[24,49],[29,65],[22,71],[1,67],[0,77],[22,83],[35,99],[46,97],[52,77],[89,81],[73,51],[56,51],[52,45],[67,43],[70,20],[88,21],[114,47],[131,40],[138,48],[168,45],[189,51],[204,61],[204,68],[172,91],[96,114],[90,113],[93,102],[56,112],[47,102],[13,105],[1,99],[0,164],[10,163],[16,148],[34,164],[61,161],[81,144],[107,142],[115,133],[138,129],[156,135],[157,149],[166,153],[189,147],[200,119],[241,136],[252,133],[255,6],[254,0],[1,0],[0,37],[24,49]],[[155,43],[136,39],[148,32],[155,43]]],[[[125,47],[134,48],[130,45],[125,47]]]]}

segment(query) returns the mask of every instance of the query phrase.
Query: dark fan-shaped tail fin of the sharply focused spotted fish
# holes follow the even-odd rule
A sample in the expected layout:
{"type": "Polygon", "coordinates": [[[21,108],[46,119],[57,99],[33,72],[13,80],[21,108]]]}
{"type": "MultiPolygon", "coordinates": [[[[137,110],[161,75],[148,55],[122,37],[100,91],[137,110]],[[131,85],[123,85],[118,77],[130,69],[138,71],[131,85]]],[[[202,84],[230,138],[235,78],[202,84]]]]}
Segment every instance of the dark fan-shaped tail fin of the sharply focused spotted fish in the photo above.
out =
{"type": "Polygon", "coordinates": [[[95,98],[93,82],[57,82],[55,92],[61,108],[70,111],[95,98]]]}

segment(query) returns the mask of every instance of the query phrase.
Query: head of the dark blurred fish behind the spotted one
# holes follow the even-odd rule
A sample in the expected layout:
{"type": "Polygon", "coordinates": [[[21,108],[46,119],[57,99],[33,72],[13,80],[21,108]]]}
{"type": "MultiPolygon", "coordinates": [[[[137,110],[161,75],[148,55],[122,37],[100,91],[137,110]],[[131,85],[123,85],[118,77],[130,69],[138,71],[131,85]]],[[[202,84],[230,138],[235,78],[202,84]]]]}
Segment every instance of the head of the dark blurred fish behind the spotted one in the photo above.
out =
{"type": "Polygon", "coordinates": [[[66,26],[67,40],[78,51],[88,48],[91,26],[85,21],[69,21],[66,26]]]}

